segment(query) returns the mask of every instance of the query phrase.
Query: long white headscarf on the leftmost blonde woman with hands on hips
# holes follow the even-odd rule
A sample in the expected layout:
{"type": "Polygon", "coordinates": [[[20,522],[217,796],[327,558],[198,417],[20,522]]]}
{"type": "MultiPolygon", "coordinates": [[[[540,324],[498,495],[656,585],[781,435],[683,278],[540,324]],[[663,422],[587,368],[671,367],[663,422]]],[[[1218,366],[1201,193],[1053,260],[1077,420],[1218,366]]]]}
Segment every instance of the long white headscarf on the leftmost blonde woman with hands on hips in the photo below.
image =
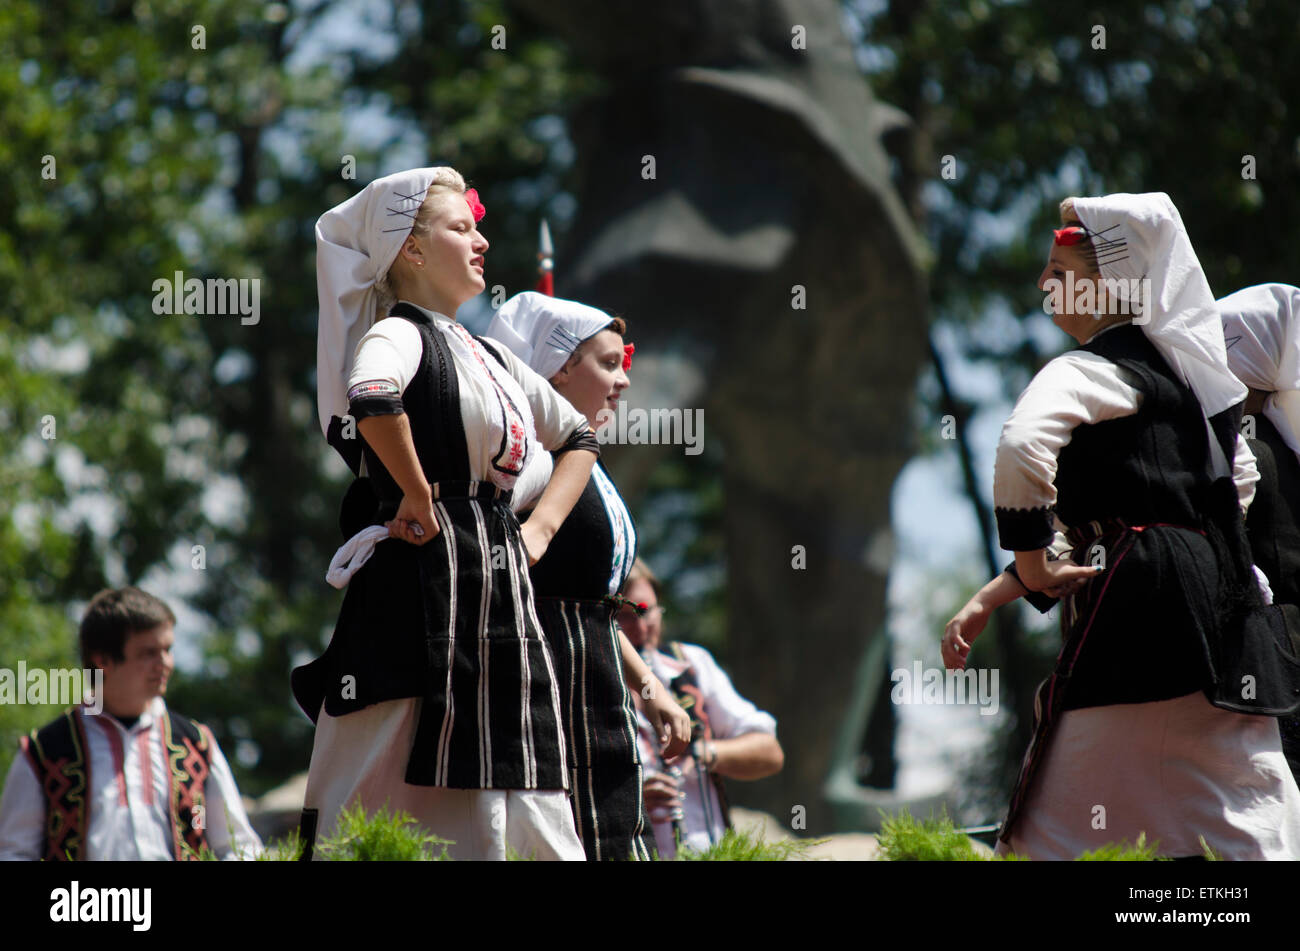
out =
{"type": "Polygon", "coordinates": [[[347,414],[347,377],[378,307],[374,282],[396,260],[443,168],[377,178],[316,221],[316,411],[322,433],[330,417],[347,414]]]}

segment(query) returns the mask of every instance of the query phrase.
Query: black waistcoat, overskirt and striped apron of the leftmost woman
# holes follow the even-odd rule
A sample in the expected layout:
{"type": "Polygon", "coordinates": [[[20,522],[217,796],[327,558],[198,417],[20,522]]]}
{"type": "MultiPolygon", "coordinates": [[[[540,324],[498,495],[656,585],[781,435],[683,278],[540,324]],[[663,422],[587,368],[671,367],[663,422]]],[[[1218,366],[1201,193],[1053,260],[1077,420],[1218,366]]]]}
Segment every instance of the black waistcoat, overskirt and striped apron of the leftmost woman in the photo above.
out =
{"type": "MultiPolygon", "coordinates": [[[[469,481],[456,368],[442,331],[413,307],[399,303],[393,313],[420,331],[420,366],[399,401],[378,398],[399,405],[354,400],[350,409],[359,418],[406,413],[439,533],[422,546],[376,544],[348,582],[325,653],[294,670],[294,695],[313,720],[322,703],[338,717],[421,698],[411,785],[563,789],[552,664],[510,492],[469,481]]],[[[391,518],[402,499],[378,456],[363,451],[369,479],[348,491],[344,533],[391,518]]]]}

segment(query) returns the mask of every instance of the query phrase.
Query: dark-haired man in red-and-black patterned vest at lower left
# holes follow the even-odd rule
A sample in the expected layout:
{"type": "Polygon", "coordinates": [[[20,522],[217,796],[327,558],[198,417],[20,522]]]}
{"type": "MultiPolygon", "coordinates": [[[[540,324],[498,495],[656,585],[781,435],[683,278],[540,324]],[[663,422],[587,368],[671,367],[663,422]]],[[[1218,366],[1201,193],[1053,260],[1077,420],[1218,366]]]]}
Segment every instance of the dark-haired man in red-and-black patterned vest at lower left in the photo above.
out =
{"type": "Polygon", "coordinates": [[[81,652],[103,669],[103,696],[22,738],[0,799],[0,860],[256,857],[216,738],[162,700],[174,625],[135,587],[91,600],[81,652]]]}

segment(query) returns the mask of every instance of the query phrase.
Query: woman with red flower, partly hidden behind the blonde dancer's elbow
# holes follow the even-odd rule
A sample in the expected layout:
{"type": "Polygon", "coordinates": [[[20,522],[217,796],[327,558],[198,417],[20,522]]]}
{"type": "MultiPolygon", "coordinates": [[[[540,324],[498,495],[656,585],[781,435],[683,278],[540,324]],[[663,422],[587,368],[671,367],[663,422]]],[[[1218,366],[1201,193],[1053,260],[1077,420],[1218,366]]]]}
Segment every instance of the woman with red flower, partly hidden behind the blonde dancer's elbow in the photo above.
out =
{"type": "MultiPolygon", "coordinates": [[[[621,317],[528,291],[511,298],[488,336],[510,347],[595,426],[628,387],[630,344],[621,317]]],[[[618,596],[636,559],[637,535],[597,463],[577,504],[532,568],[542,630],[556,660],[573,816],[588,859],[649,859],[653,834],[642,800],[637,748],[641,704],[666,756],[690,738],[690,718],[615,625],[618,596]]]]}

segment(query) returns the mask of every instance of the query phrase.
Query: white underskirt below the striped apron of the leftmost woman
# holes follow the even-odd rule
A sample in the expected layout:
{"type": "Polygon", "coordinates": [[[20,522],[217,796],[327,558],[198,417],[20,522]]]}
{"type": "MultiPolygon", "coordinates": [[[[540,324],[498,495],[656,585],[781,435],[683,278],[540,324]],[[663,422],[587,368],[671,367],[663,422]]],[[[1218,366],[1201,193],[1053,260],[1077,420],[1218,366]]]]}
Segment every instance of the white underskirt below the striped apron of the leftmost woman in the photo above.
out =
{"type": "Polygon", "coordinates": [[[507,848],[524,859],[586,859],[563,790],[407,783],[421,703],[389,700],[342,717],[332,717],[321,704],[304,802],[318,812],[317,839],[332,835],[339,812],[360,800],[368,813],[385,804],[390,812],[410,813],[430,834],[451,841],[452,859],[500,861],[507,848]]]}

